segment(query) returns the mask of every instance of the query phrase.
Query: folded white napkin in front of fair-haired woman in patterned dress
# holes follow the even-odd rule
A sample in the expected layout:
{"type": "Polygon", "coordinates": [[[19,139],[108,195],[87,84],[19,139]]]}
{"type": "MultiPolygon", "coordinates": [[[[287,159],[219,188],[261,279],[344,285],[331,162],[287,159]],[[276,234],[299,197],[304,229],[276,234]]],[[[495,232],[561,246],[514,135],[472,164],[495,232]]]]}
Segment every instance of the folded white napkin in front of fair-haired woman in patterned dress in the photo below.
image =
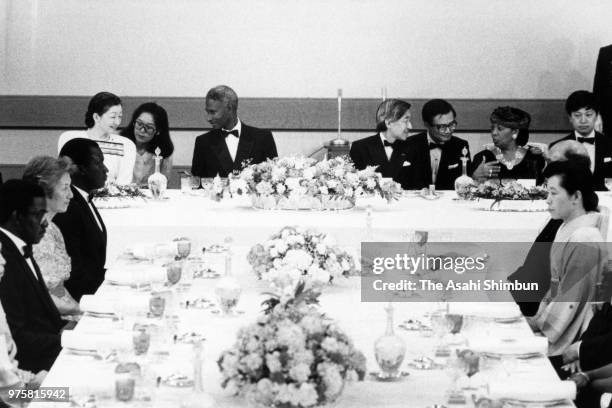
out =
{"type": "Polygon", "coordinates": [[[149,311],[148,293],[130,293],[129,296],[83,295],[79,306],[83,312],[111,314],[146,313],[149,311]]]}

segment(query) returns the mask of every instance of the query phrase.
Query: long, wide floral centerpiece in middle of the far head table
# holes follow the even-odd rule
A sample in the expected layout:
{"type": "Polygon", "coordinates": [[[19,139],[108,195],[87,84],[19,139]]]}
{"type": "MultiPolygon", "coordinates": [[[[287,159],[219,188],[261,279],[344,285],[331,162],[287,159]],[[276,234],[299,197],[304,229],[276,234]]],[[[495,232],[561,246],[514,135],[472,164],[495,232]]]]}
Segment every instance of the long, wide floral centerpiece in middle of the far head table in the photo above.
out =
{"type": "Polygon", "coordinates": [[[399,184],[373,167],[357,170],[344,157],[275,158],[246,167],[233,184],[232,193],[245,191],[255,207],[266,209],[347,209],[359,196],[379,194],[391,201],[401,195],[399,184]]]}

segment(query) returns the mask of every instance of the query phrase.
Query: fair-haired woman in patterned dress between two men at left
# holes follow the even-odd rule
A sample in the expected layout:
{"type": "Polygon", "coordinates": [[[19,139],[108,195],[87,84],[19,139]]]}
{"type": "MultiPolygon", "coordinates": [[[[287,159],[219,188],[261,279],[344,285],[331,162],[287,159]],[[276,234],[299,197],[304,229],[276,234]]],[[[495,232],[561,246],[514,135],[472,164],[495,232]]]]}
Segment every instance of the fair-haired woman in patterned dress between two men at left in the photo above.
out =
{"type": "Polygon", "coordinates": [[[79,313],[79,304],[64,288],[64,281],[70,277],[72,270],[71,259],[64,237],[53,222],[55,214],[65,212],[72,199],[70,172],[73,167],[70,159],[65,157],[37,156],[26,164],[23,174],[24,180],[41,186],[47,196],[45,218],[49,226],[42,240],[33,246],[33,255],[51,299],[62,315],[79,313]]]}

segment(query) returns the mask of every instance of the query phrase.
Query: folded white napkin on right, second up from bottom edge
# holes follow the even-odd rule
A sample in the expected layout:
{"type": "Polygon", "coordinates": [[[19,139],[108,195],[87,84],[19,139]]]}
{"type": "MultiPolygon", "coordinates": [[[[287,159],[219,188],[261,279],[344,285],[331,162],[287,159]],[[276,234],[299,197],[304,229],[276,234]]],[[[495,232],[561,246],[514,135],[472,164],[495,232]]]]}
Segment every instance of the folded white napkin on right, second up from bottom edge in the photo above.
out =
{"type": "Polygon", "coordinates": [[[482,336],[470,339],[470,349],[479,353],[499,355],[525,355],[540,353],[546,355],[548,340],[546,337],[497,338],[482,336]]]}

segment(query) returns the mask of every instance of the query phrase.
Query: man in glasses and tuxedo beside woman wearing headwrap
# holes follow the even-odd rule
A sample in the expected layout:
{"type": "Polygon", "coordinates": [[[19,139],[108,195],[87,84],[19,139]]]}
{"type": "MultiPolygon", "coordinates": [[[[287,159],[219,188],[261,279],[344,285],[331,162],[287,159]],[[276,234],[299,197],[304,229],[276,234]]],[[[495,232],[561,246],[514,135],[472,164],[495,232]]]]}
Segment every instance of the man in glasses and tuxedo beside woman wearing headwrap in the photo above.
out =
{"type": "Polygon", "coordinates": [[[470,160],[468,143],[453,132],[457,114],[443,99],[432,99],[423,105],[423,123],[427,131],[406,140],[410,176],[404,188],[421,189],[431,184],[438,190],[453,190],[461,176],[461,157],[470,160]]]}

